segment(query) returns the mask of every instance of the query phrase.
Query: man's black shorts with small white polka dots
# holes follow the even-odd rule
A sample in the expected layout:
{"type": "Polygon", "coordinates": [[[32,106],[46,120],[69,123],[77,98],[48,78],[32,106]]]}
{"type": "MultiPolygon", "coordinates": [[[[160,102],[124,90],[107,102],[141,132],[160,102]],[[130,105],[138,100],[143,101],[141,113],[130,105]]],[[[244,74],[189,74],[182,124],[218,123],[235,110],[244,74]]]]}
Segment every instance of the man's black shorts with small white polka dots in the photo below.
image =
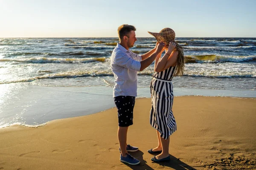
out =
{"type": "Polygon", "coordinates": [[[116,96],[114,101],[118,114],[118,126],[127,127],[133,124],[134,96],[116,96]]]}

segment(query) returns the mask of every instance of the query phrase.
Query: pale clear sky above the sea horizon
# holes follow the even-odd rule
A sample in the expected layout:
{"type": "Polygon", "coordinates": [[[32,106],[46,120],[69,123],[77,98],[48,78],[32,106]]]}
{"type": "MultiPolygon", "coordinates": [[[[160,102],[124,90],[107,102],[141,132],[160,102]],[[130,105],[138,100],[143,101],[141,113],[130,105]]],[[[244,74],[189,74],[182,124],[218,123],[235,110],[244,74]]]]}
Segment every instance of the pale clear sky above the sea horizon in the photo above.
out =
{"type": "Polygon", "coordinates": [[[0,0],[0,37],[256,37],[256,0],[0,0]]]}

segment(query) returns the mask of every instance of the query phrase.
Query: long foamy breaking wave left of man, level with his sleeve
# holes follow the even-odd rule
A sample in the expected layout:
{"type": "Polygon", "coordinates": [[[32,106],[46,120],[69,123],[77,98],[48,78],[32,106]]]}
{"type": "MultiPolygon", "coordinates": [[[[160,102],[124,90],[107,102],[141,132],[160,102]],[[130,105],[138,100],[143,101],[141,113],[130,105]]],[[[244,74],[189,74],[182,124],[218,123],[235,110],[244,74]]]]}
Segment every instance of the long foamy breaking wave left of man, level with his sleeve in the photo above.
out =
{"type": "Polygon", "coordinates": [[[59,58],[28,58],[28,59],[0,59],[0,62],[31,62],[31,63],[84,63],[84,62],[105,62],[105,57],[99,58],[84,58],[84,59],[59,59],[59,58]]]}

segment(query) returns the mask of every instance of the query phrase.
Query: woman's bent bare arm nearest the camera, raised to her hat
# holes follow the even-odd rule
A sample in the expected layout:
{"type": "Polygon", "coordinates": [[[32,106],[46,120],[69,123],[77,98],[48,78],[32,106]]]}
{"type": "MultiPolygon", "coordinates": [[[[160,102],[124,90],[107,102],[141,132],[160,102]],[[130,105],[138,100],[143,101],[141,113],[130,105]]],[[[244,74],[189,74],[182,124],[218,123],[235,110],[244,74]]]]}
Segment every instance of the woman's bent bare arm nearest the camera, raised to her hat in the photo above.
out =
{"type": "Polygon", "coordinates": [[[170,42],[166,54],[157,62],[155,71],[161,72],[175,65],[178,57],[178,51],[173,51],[175,47],[175,42],[170,42]]]}

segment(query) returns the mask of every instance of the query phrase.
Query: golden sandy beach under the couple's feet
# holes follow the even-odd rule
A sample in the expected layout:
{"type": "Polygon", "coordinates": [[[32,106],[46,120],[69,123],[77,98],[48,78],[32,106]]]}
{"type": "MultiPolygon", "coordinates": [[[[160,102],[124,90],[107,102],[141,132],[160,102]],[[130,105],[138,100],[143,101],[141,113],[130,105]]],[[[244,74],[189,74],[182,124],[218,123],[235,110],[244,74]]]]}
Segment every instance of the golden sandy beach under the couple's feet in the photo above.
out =
{"type": "MultiPolygon", "coordinates": [[[[116,108],[58,119],[42,127],[0,129],[0,170],[253,170],[256,169],[256,100],[175,96],[177,131],[171,161],[152,163],[157,137],[149,124],[151,99],[136,100],[128,144],[140,165],[119,161],[116,108]]],[[[84,108],[86,110],[86,108],[84,108]]]]}

